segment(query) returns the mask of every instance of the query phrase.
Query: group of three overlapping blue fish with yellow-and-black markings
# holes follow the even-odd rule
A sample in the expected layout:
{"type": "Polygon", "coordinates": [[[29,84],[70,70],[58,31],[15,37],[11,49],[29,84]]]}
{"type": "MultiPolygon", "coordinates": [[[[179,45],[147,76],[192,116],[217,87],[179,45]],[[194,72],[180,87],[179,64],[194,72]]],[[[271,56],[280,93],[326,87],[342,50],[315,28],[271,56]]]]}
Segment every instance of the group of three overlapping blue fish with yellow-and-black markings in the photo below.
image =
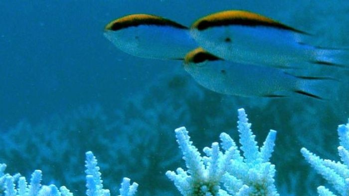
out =
{"type": "Polygon", "coordinates": [[[348,70],[347,49],[317,47],[313,36],[266,16],[227,10],[196,20],[190,28],[151,14],[131,14],[108,23],[105,37],[143,58],[182,60],[203,87],[236,96],[332,99],[340,82],[317,66],[348,70]]]}

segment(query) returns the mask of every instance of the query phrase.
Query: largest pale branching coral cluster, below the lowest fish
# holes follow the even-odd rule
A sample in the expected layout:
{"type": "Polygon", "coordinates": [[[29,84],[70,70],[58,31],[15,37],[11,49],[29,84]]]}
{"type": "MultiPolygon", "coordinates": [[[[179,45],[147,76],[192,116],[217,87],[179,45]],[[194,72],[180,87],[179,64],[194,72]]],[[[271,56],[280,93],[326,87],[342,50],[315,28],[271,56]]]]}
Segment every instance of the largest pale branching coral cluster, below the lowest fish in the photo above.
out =
{"type": "Polygon", "coordinates": [[[238,131],[243,156],[231,137],[222,133],[219,144],[205,147],[201,156],[184,128],[175,130],[187,171],[178,168],[166,175],[183,196],[278,196],[275,166],[269,162],[276,131],[271,130],[259,149],[244,109],[238,110],[238,131]],[[223,185],[223,186],[222,186],[223,185]]]}

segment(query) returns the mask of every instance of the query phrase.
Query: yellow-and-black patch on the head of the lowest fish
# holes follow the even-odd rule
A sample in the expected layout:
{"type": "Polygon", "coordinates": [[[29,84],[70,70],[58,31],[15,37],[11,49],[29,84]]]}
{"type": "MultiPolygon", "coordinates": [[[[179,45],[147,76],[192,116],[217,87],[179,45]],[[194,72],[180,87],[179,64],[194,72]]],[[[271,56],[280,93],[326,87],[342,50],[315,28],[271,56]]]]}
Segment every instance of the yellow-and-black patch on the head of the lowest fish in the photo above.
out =
{"type": "Polygon", "coordinates": [[[221,58],[214,56],[213,54],[208,53],[201,47],[198,47],[194,50],[191,50],[185,55],[184,64],[187,65],[189,63],[201,63],[206,60],[220,60],[221,58]]]}

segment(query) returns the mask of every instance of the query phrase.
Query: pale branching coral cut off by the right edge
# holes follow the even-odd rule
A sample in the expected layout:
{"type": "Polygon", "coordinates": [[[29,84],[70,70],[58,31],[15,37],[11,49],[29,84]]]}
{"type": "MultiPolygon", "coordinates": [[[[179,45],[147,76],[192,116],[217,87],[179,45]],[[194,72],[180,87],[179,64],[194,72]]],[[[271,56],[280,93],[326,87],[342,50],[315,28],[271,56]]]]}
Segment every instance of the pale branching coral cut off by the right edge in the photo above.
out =
{"type": "MultiPolygon", "coordinates": [[[[343,163],[321,159],[306,148],[301,152],[311,166],[321,174],[341,196],[349,196],[349,123],[338,127],[338,152],[343,163]]],[[[336,196],[324,186],[318,187],[320,196],[336,196]]]]}

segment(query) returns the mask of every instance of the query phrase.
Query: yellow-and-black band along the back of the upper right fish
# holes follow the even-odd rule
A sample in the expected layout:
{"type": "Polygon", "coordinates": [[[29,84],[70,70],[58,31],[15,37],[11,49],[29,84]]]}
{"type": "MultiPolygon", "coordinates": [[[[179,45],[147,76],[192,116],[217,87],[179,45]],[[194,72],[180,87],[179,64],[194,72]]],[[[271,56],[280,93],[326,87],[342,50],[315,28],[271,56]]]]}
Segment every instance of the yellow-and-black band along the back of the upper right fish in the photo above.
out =
{"type": "Polygon", "coordinates": [[[299,33],[308,34],[290,26],[284,25],[271,18],[257,13],[243,10],[227,10],[213,13],[196,20],[191,28],[205,30],[213,26],[245,25],[245,26],[269,26],[285,30],[292,30],[299,33]]]}

